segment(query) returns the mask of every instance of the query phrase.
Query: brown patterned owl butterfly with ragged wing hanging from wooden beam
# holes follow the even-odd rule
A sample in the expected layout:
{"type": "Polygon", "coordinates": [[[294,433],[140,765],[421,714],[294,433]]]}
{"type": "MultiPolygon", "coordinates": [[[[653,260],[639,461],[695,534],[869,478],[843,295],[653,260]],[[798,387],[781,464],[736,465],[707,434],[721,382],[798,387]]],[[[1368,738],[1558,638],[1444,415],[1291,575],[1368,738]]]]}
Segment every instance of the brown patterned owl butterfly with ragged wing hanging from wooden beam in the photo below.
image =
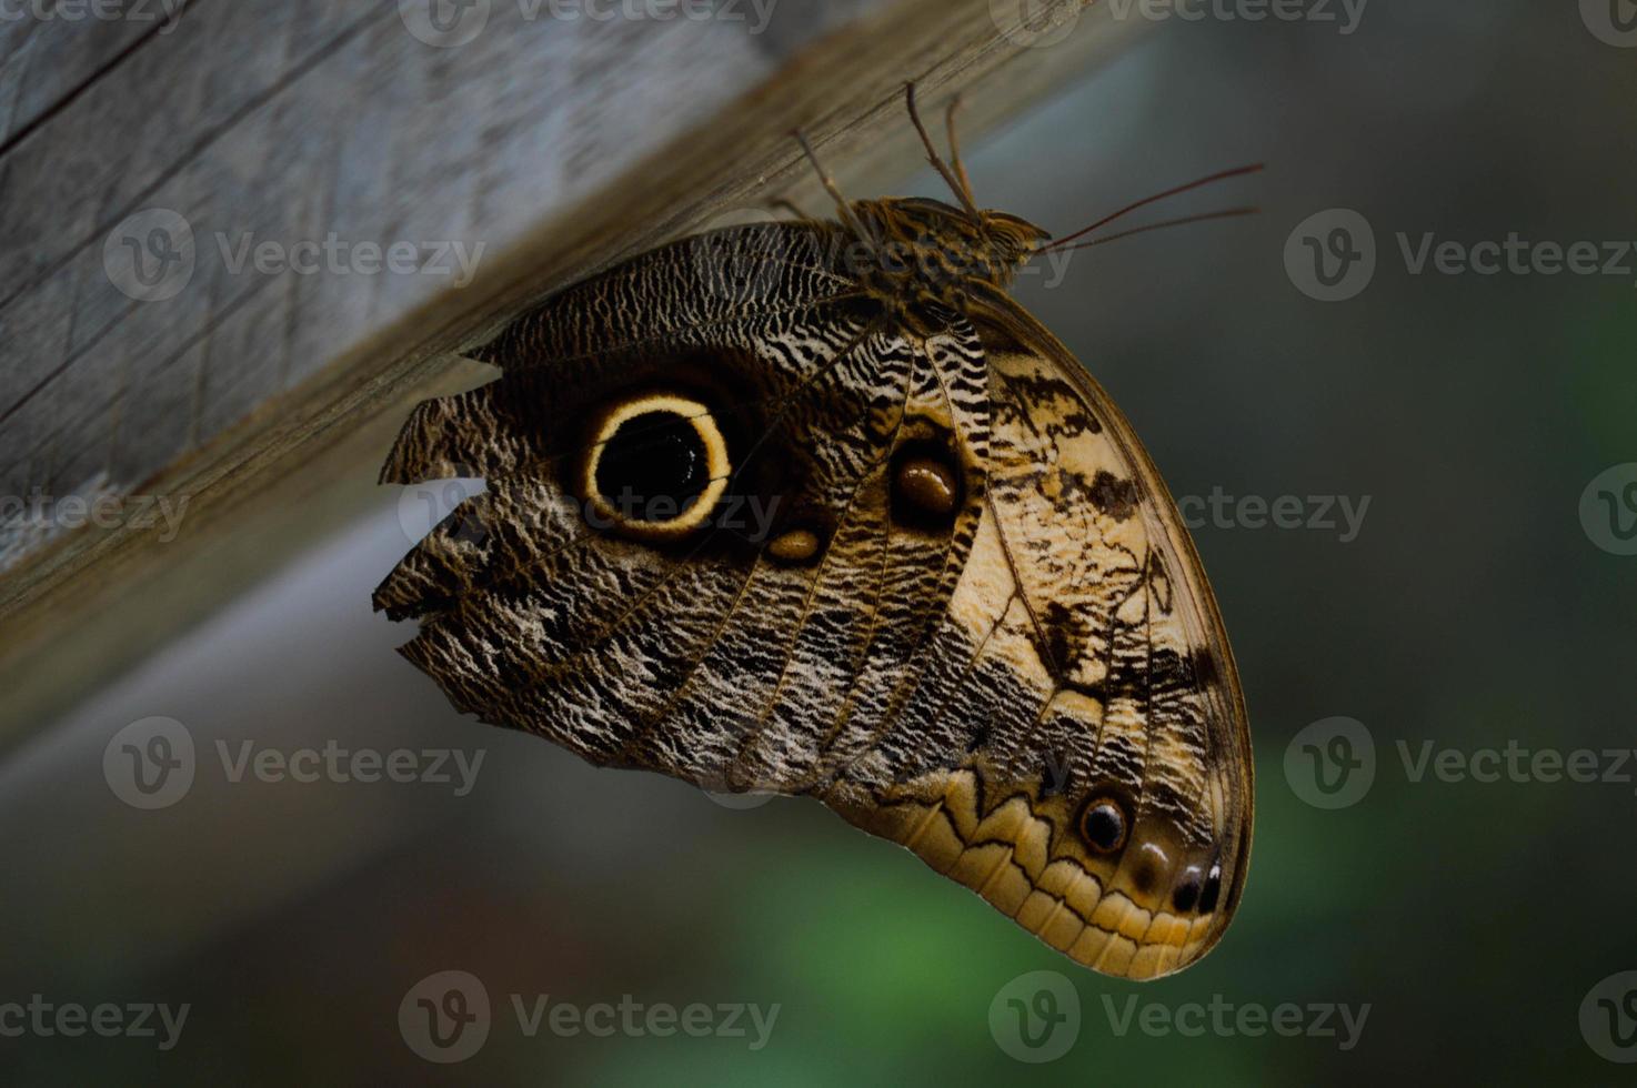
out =
{"type": "MultiPolygon", "coordinates": [[[[1046,232],[848,203],[576,283],[416,407],[383,483],[483,476],[375,592],[463,712],[598,766],[817,797],[1095,970],[1203,955],[1251,743],[1130,424],[1003,291],[1046,232]]],[[[812,157],[812,149],[804,149],[812,157]]],[[[814,159],[817,167],[817,159],[814,159]]],[[[1149,201],[1144,201],[1149,203],[1149,201]]]]}

